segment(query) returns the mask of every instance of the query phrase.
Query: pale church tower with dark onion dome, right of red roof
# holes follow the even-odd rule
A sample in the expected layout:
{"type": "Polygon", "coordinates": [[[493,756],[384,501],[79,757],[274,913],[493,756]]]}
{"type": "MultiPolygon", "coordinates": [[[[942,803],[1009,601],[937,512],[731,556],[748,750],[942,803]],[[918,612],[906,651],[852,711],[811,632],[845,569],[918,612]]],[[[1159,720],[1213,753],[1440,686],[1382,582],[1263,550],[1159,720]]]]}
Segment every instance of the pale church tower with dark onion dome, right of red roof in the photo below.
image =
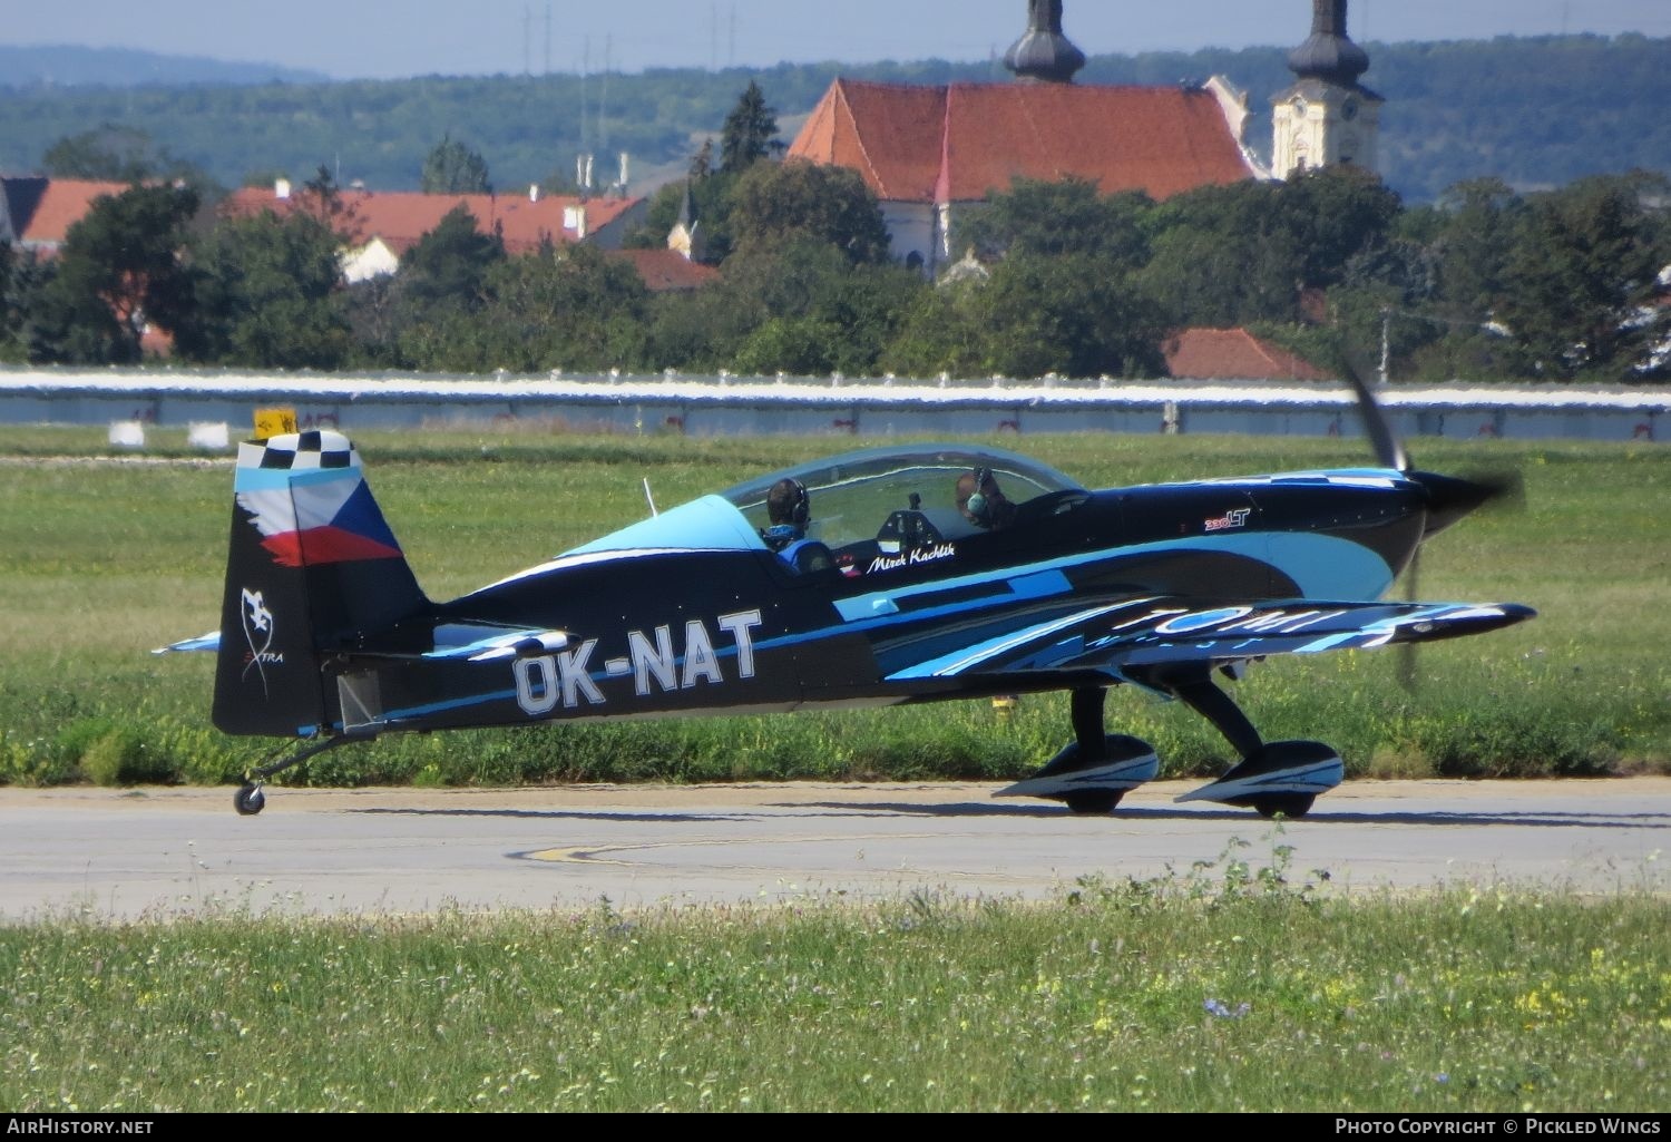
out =
{"type": "Polygon", "coordinates": [[[1317,167],[1375,171],[1380,95],[1359,84],[1369,55],[1347,35],[1347,0],[1312,0],[1312,35],[1288,52],[1293,87],[1272,100],[1272,174],[1317,167]]]}

